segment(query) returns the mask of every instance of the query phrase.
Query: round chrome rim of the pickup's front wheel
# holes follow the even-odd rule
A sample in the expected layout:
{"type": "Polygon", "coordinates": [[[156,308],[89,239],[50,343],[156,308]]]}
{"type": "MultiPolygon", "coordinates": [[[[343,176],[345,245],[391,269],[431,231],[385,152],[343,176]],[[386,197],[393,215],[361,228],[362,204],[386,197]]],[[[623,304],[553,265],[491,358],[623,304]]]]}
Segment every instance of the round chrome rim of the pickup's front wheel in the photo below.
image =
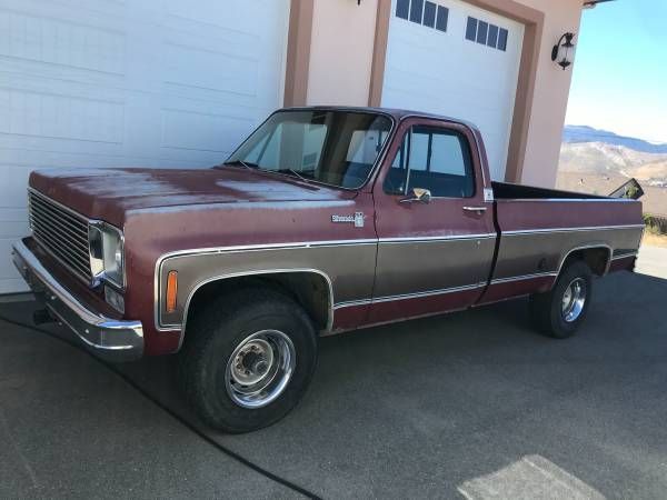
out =
{"type": "Polygon", "coordinates": [[[261,330],[246,337],[233,350],[225,370],[231,400],[242,408],[261,408],[285,391],[295,371],[297,353],[279,330],[261,330]]]}

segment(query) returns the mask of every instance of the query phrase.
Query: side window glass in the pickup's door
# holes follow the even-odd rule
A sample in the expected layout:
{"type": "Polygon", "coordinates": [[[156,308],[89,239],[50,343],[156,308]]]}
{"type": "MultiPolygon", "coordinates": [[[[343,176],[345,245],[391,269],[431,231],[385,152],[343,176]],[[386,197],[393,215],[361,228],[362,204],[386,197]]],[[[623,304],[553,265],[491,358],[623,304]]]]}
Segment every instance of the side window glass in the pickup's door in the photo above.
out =
{"type": "Polygon", "coordinates": [[[404,137],[385,179],[385,192],[428,189],[431,197],[470,198],[475,178],[466,138],[452,130],[412,127],[404,137]]]}

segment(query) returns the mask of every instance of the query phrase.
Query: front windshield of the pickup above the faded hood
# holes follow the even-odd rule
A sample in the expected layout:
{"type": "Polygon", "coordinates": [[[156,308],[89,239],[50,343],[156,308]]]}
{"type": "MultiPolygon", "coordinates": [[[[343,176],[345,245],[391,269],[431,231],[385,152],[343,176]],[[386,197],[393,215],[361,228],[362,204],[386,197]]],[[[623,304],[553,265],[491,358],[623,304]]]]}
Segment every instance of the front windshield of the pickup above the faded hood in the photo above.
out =
{"type": "Polygon", "coordinates": [[[390,130],[391,120],[377,113],[280,111],[225,163],[355,189],[368,179],[390,130]]]}

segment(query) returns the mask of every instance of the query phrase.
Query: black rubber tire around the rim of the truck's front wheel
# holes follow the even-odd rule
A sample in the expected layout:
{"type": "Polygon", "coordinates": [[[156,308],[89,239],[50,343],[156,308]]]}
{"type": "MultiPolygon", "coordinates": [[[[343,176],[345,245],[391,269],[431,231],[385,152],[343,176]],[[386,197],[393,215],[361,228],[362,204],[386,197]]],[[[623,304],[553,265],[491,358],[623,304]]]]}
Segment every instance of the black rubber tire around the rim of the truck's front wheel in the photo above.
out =
{"type": "Polygon", "coordinates": [[[179,384],[199,416],[221,431],[249,432],[275,423],[299,402],[315,372],[317,334],[291,298],[270,289],[241,289],[215,299],[189,320],[179,357],[179,384]],[[228,362],[249,336],[269,330],[283,332],[291,341],[296,353],[291,377],[266,406],[242,407],[232,399],[228,370],[233,368],[228,362]]]}

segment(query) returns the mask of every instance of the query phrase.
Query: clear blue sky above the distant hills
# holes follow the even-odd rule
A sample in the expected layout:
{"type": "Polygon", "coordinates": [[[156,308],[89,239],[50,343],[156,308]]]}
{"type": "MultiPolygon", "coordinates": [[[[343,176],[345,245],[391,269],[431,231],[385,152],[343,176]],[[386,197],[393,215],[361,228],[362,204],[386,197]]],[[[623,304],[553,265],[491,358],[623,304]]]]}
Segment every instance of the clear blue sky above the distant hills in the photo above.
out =
{"type": "Polygon", "coordinates": [[[566,123],[667,142],[667,0],[585,10],[566,123]]]}

